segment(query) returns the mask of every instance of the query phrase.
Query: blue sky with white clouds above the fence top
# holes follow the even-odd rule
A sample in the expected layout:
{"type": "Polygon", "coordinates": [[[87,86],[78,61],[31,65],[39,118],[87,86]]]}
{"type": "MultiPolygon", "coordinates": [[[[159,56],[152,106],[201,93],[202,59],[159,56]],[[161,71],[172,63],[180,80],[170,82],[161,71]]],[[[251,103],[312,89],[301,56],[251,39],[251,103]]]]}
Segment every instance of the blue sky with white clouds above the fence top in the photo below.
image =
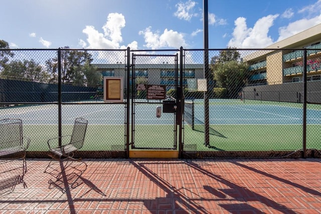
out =
{"type": "MultiPolygon", "coordinates": [[[[4,0],[11,49],[203,49],[203,0],[4,0]]],[[[208,0],[210,49],[265,48],[321,23],[321,0],[208,0]]]]}

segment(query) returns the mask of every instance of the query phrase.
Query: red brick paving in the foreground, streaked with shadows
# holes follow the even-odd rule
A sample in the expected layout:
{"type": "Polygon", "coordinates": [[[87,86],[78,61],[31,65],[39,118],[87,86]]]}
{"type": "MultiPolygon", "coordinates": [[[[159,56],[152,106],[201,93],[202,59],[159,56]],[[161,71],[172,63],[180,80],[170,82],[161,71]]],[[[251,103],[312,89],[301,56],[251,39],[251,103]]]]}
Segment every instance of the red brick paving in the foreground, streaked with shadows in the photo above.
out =
{"type": "Polygon", "coordinates": [[[28,159],[1,213],[321,213],[319,159],[28,159]],[[85,170],[83,172],[83,170],[85,170]],[[49,181],[54,183],[49,185],[49,181]]]}

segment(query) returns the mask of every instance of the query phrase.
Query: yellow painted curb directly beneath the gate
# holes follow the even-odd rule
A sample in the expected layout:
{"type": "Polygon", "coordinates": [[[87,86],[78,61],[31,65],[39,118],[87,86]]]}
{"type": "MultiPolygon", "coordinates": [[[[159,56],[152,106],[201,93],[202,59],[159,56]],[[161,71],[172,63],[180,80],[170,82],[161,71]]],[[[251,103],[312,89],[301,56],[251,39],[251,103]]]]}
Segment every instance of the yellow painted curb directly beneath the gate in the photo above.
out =
{"type": "Polygon", "coordinates": [[[178,158],[175,150],[130,150],[129,158],[178,158]]]}

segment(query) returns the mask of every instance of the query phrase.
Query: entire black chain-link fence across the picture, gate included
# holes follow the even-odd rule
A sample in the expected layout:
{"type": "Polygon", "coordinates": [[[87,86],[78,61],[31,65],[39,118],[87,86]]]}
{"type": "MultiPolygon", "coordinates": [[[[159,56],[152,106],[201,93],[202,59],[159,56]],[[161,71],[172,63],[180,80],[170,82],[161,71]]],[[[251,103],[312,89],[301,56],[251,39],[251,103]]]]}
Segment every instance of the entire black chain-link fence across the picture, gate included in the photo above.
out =
{"type": "Polygon", "coordinates": [[[29,157],[46,157],[77,117],[89,121],[82,157],[321,156],[316,48],[0,52],[0,115],[23,120],[29,157]],[[104,102],[103,77],[122,78],[122,102],[104,102]]]}

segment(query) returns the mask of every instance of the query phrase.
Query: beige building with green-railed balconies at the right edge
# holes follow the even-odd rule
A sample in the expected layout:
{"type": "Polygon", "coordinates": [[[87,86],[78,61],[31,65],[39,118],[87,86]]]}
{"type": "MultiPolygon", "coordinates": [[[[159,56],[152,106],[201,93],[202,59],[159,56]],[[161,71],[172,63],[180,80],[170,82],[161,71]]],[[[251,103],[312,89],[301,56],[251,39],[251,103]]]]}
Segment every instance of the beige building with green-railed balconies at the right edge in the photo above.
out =
{"type": "Polygon", "coordinates": [[[321,80],[321,24],[243,58],[249,64],[248,85],[273,85],[302,81],[302,50],[307,49],[307,81],[321,80]],[[292,50],[286,50],[292,49],[292,50]]]}

